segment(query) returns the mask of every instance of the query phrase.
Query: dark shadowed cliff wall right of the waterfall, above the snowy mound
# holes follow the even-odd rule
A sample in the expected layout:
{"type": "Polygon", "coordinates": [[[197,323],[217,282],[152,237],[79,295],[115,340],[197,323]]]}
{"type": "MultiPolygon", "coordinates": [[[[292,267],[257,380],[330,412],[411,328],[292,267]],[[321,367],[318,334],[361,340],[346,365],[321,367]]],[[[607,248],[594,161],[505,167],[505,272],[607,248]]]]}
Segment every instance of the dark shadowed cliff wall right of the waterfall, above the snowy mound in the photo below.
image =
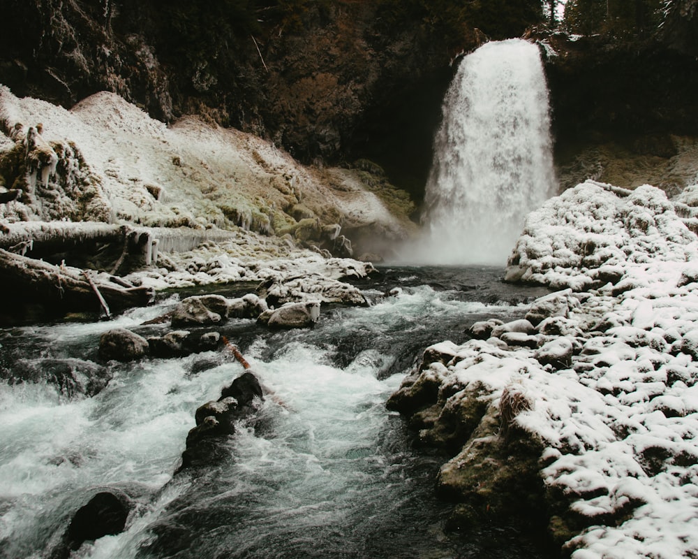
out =
{"type": "Polygon", "coordinates": [[[560,191],[695,184],[698,61],[669,38],[543,38],[560,191]]]}

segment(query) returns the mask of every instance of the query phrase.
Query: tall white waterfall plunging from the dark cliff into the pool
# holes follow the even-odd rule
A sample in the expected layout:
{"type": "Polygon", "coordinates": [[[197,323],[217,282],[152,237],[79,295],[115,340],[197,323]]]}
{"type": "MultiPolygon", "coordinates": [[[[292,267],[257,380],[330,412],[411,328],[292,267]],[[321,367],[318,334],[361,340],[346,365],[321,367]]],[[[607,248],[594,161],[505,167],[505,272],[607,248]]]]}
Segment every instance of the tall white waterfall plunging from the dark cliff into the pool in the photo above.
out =
{"type": "Polygon", "coordinates": [[[506,263],[523,218],[553,193],[548,109],[536,45],[492,42],[463,58],[443,104],[417,259],[506,263]]]}

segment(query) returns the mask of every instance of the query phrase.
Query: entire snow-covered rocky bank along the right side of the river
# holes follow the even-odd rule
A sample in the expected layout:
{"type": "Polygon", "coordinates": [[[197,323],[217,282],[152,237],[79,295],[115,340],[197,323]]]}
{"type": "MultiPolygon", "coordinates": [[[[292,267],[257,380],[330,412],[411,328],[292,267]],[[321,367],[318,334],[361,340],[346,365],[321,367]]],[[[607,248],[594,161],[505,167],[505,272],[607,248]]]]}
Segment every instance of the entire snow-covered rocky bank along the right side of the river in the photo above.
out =
{"type": "MultiPolygon", "coordinates": [[[[542,447],[549,530],[572,558],[695,557],[698,243],[662,191],[612,190],[580,184],[528,216],[510,275],[568,288],[533,303],[530,331],[478,323],[471,333],[488,340],[427,349],[396,395],[417,401],[436,379],[433,407],[415,414],[434,418],[424,437],[470,421],[473,402],[497,409],[516,383],[530,405],[513,423],[542,447]]],[[[487,417],[440,483],[492,503],[482,479],[467,486],[478,467],[506,467],[493,463],[505,443],[487,417]]]]}

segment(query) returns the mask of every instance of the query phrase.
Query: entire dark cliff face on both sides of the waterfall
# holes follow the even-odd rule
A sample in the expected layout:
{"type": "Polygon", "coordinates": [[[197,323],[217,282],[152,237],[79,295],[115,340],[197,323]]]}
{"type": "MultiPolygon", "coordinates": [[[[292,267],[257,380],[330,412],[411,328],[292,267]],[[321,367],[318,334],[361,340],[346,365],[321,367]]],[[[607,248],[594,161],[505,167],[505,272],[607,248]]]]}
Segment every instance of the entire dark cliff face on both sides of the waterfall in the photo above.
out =
{"type": "MultiPolygon", "coordinates": [[[[485,33],[532,22],[505,25],[507,10],[496,30],[482,14],[391,0],[6,3],[0,83],[17,96],[70,107],[107,90],[165,122],[193,113],[255,133],[304,163],[366,157],[417,202],[452,62],[485,33]]],[[[670,160],[698,125],[698,17],[692,0],[674,5],[652,37],[537,37],[563,188],[589,177],[636,186],[617,161],[670,192],[690,183],[670,160]]]]}

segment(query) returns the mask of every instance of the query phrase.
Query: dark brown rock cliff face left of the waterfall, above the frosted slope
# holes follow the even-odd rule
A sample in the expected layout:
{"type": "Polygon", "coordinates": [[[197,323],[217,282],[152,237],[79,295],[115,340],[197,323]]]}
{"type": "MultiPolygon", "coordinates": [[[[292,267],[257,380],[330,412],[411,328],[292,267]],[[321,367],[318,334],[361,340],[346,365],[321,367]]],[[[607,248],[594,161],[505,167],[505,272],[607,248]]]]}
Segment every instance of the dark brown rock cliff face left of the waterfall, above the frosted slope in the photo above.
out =
{"type": "Polygon", "coordinates": [[[195,113],[255,133],[305,163],[369,153],[406,177],[426,175],[452,58],[484,39],[464,28],[453,41],[419,14],[391,19],[384,2],[258,1],[239,13],[179,0],[9,3],[0,82],[17,96],[69,107],[108,90],[165,122],[195,113]]]}

